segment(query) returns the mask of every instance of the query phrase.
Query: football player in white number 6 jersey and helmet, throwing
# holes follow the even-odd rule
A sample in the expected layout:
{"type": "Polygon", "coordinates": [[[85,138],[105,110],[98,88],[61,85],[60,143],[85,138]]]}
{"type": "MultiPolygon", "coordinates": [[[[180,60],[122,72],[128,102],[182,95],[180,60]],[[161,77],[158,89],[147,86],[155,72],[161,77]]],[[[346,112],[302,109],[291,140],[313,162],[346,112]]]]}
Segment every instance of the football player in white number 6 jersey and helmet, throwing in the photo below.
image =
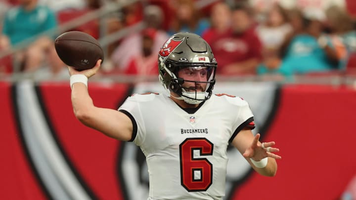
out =
{"type": "MultiPolygon", "coordinates": [[[[167,94],[134,94],[117,110],[95,107],[87,81],[100,67],[69,67],[74,114],[103,134],[134,142],[146,157],[148,200],[222,200],[231,143],[260,174],[277,170],[274,142],[252,133],[254,116],[235,96],[213,94],[218,63],[209,44],[178,33],[158,53],[159,80],[167,94]]],[[[238,169],[236,169],[238,170],[238,169]]]]}

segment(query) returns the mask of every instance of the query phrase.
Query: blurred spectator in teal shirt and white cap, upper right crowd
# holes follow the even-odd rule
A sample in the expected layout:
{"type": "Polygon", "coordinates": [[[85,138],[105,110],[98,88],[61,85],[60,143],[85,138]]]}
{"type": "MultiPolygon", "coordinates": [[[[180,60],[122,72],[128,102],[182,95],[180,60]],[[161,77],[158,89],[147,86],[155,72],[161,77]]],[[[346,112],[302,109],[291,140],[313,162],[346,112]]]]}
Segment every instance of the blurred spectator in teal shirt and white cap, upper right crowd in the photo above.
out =
{"type": "Polygon", "coordinates": [[[284,75],[328,72],[338,69],[339,57],[330,37],[323,34],[326,17],[321,9],[305,9],[305,33],[289,44],[278,71],[284,75]]]}

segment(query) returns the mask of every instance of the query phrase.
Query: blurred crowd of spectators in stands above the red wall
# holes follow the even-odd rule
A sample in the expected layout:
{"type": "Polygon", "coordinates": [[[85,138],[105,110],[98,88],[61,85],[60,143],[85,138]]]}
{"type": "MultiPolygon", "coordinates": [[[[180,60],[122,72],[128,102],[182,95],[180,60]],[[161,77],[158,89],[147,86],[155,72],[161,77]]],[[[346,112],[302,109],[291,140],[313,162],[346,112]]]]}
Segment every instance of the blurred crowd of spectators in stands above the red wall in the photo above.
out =
{"type": "MultiPolygon", "coordinates": [[[[19,44],[26,48],[1,57],[0,73],[67,77],[53,45],[60,33],[41,34],[113,2],[124,0],[1,1],[0,53],[19,44]],[[15,63],[20,66],[18,70],[15,63]]],[[[135,1],[109,13],[105,20],[92,20],[72,30],[99,39],[144,23],[143,31],[104,46],[105,74],[158,74],[157,51],[176,32],[193,32],[205,39],[219,63],[219,75],[291,76],[352,73],[356,69],[356,5],[352,0],[206,2],[135,1]]]]}

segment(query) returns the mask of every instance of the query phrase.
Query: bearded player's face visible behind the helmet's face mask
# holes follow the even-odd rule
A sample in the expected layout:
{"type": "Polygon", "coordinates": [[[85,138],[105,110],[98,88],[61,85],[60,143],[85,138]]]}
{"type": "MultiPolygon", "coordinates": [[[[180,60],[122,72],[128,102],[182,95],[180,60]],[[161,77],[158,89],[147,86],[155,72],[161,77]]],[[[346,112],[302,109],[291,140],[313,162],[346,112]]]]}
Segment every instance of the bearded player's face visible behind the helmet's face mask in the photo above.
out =
{"type": "Polygon", "coordinates": [[[189,88],[188,91],[205,91],[207,83],[205,82],[190,82],[190,81],[207,81],[208,80],[208,70],[206,67],[187,67],[180,69],[178,71],[178,77],[184,79],[182,86],[184,88],[189,88]],[[189,81],[190,80],[190,81],[189,81]]]}

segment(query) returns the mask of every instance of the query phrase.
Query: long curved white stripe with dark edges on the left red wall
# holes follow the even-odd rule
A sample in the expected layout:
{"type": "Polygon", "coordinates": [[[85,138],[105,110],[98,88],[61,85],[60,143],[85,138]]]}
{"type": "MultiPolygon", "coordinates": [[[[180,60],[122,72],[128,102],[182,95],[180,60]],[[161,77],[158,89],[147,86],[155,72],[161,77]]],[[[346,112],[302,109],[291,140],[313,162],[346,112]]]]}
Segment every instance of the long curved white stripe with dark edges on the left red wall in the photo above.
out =
{"type": "Polygon", "coordinates": [[[68,160],[57,140],[55,130],[50,125],[54,119],[49,119],[45,114],[39,87],[31,81],[23,81],[17,83],[13,90],[22,145],[47,198],[96,200],[97,197],[68,160]]]}

